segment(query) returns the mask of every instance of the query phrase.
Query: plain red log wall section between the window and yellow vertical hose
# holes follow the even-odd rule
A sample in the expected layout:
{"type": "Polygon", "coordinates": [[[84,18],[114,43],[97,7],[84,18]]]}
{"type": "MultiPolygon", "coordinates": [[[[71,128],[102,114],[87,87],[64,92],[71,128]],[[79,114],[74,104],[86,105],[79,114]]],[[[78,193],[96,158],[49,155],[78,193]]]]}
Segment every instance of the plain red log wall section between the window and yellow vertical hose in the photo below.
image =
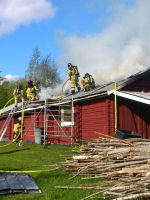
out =
{"type": "Polygon", "coordinates": [[[114,135],[114,102],[111,97],[76,105],[75,135],[82,139],[99,136],[95,131],[114,135]]]}

